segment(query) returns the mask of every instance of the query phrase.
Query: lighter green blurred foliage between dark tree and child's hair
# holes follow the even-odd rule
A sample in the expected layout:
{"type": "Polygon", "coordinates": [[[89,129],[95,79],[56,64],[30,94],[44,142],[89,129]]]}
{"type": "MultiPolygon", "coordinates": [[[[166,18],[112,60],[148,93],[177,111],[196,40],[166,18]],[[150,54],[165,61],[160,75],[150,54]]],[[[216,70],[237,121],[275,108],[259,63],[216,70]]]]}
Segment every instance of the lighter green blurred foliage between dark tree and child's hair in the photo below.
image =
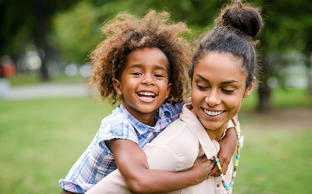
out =
{"type": "Polygon", "coordinates": [[[89,51],[100,42],[99,8],[81,1],[53,18],[50,44],[58,48],[66,61],[84,63],[89,51]]]}

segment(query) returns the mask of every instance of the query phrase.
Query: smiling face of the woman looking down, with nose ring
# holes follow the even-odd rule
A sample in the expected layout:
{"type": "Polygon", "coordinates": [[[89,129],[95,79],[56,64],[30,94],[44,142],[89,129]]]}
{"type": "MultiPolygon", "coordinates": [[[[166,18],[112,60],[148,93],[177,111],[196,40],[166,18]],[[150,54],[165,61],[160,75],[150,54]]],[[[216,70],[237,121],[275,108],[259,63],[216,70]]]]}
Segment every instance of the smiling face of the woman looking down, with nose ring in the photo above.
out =
{"type": "Polygon", "coordinates": [[[207,130],[223,132],[241,108],[242,99],[251,94],[256,78],[246,89],[242,62],[219,52],[209,52],[198,60],[192,81],[192,112],[207,130]]]}

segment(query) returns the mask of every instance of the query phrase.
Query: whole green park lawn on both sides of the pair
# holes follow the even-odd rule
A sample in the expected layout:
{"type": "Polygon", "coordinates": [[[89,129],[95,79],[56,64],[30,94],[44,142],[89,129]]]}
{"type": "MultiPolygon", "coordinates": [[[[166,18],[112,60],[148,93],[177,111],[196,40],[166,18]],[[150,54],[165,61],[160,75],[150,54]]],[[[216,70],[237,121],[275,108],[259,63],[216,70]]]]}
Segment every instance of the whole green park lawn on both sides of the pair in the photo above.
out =
{"type": "MultiPolygon", "coordinates": [[[[1,193],[59,193],[58,180],[65,177],[112,109],[84,97],[0,100],[1,193]]],[[[234,194],[310,193],[312,127],[244,129],[243,133],[246,140],[234,194]]]]}

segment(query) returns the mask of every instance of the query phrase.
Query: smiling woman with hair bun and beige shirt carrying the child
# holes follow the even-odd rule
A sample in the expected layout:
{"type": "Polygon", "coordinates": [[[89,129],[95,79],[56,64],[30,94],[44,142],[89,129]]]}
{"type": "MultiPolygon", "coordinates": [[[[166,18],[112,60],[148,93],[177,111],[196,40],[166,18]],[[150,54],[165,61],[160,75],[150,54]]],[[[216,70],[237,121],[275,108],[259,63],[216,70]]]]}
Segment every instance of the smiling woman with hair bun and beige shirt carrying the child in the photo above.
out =
{"type": "MultiPolygon", "coordinates": [[[[221,176],[172,194],[231,193],[235,181],[242,141],[237,146],[234,173],[230,164],[226,175],[218,164],[217,141],[224,137],[230,120],[236,123],[234,117],[242,99],[255,85],[257,55],[251,37],[260,31],[262,19],[256,8],[237,1],[225,7],[215,22],[215,28],[200,41],[189,71],[192,103],[185,104],[180,118],[143,150],[151,169],[173,172],[190,168],[197,157],[206,154],[215,158],[221,176]]],[[[237,136],[241,139],[238,128],[237,136]]],[[[127,194],[118,173],[116,170],[109,174],[87,194],[127,194]]]]}

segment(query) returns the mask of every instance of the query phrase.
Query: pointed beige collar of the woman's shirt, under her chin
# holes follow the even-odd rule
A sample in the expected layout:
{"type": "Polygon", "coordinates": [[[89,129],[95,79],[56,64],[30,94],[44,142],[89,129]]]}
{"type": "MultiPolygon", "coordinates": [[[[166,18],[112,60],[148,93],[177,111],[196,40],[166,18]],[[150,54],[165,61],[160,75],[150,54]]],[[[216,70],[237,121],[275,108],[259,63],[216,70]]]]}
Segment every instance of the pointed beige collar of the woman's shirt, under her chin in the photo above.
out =
{"type": "Polygon", "coordinates": [[[192,129],[197,134],[199,143],[202,145],[202,148],[207,156],[207,158],[213,157],[217,154],[213,143],[211,142],[204,126],[198,120],[198,118],[191,112],[192,103],[187,103],[183,105],[182,112],[180,114],[180,119],[188,123],[192,129]]]}

